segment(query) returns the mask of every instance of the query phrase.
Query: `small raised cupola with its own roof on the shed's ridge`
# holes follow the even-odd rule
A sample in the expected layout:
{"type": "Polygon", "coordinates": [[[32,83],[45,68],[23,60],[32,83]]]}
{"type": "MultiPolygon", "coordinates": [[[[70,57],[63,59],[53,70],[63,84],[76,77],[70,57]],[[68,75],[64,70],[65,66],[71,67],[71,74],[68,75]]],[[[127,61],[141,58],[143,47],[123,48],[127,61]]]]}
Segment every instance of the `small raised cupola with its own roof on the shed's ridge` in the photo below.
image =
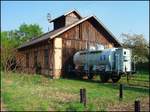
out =
{"type": "Polygon", "coordinates": [[[57,30],[61,27],[70,25],[70,24],[80,20],[81,18],[82,17],[80,16],[80,14],[77,11],[73,10],[62,16],[59,16],[59,17],[51,20],[50,22],[54,23],[54,30],[57,30]]]}

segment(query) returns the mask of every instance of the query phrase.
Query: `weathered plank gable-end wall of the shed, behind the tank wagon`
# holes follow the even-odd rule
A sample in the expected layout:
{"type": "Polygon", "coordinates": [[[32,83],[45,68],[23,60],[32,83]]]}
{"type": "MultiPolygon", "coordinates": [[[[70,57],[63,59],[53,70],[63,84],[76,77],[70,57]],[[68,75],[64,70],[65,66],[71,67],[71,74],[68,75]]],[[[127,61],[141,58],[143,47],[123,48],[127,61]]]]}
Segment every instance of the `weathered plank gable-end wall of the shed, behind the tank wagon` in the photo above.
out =
{"type": "Polygon", "coordinates": [[[85,50],[88,41],[90,46],[102,44],[105,48],[113,47],[113,44],[89,21],[75,26],[60,37],[62,38],[62,69],[65,73],[74,68],[73,55],[79,50],[85,50]]]}

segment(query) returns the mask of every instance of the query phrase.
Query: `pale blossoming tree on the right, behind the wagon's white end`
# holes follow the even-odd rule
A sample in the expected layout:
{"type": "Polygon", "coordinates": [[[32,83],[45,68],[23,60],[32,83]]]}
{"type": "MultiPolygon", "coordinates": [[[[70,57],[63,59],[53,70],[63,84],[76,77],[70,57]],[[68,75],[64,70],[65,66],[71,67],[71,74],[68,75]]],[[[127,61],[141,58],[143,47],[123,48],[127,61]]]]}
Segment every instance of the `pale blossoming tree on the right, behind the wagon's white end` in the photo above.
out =
{"type": "Polygon", "coordinates": [[[143,35],[122,34],[123,47],[132,49],[132,59],[136,63],[149,61],[149,44],[143,35]]]}

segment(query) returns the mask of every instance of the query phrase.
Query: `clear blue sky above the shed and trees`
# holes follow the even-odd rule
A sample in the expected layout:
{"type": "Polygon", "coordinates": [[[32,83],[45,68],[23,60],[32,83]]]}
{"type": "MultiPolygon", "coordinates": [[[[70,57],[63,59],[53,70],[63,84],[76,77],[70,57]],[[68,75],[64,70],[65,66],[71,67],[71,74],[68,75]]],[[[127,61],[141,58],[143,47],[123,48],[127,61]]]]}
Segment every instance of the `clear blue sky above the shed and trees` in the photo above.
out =
{"type": "Polygon", "coordinates": [[[119,39],[122,33],[143,34],[149,40],[148,1],[2,1],[1,31],[23,24],[39,24],[43,32],[53,29],[47,13],[56,18],[76,9],[84,16],[95,15],[119,39]]]}

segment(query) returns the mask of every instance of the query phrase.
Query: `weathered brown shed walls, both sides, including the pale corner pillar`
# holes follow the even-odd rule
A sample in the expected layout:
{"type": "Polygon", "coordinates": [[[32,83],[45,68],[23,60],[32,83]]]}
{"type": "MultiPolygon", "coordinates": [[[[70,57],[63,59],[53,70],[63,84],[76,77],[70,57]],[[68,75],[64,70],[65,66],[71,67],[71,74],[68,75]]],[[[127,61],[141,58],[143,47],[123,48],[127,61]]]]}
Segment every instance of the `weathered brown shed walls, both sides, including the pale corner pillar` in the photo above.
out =
{"type": "Polygon", "coordinates": [[[91,22],[90,20],[85,21],[54,39],[21,50],[22,55],[20,57],[23,58],[22,71],[36,73],[34,52],[38,51],[37,62],[41,65],[41,74],[59,78],[60,75],[67,74],[74,69],[73,55],[77,51],[85,50],[88,46],[96,46],[97,44],[103,45],[105,48],[114,47],[113,42],[109,40],[109,36],[103,33],[103,28],[97,28],[91,22]],[[48,68],[44,64],[45,49],[49,50],[48,68]],[[29,67],[26,66],[26,53],[29,53],[29,67]]]}

